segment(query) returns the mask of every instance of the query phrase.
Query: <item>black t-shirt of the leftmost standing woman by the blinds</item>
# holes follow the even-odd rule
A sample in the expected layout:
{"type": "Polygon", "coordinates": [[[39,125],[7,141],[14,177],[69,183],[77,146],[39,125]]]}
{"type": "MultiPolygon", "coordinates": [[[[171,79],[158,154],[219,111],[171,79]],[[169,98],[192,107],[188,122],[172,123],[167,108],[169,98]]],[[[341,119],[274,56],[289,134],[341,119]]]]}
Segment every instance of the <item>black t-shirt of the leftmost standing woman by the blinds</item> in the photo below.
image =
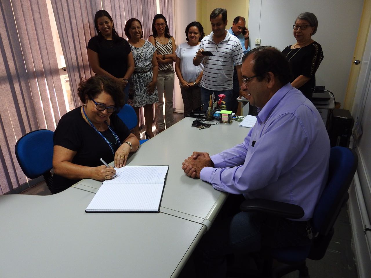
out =
{"type": "Polygon", "coordinates": [[[118,37],[116,41],[101,36],[92,37],[88,49],[98,53],[99,66],[116,78],[124,77],[128,69],[128,55],[131,48],[127,40],[118,37]]]}

